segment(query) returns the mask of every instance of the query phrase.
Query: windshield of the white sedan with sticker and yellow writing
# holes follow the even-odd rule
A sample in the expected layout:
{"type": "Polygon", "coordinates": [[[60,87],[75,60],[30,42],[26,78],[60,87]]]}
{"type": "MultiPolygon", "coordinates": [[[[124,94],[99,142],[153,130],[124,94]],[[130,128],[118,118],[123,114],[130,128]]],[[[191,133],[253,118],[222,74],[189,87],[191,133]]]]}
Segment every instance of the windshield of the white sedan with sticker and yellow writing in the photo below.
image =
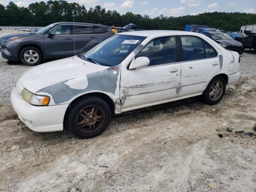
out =
{"type": "Polygon", "coordinates": [[[82,57],[92,63],[103,66],[116,66],[126,58],[146,37],[132,35],[114,35],[82,57]]]}

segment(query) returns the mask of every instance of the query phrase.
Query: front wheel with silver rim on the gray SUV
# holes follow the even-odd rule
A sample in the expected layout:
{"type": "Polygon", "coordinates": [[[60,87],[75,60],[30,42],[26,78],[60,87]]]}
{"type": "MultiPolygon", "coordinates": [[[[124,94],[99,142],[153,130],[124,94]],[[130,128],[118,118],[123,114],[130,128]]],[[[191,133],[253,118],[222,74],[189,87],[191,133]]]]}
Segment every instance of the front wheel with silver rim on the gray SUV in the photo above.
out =
{"type": "Polygon", "coordinates": [[[21,50],[20,60],[25,65],[35,66],[41,63],[42,53],[38,48],[33,46],[28,46],[21,50]]]}

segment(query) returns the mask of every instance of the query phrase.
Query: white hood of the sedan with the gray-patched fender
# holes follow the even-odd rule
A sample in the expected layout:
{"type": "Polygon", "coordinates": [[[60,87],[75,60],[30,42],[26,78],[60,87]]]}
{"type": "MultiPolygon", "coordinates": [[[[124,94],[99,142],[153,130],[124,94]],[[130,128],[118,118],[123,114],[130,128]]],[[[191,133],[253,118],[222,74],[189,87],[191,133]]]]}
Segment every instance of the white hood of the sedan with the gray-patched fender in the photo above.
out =
{"type": "Polygon", "coordinates": [[[109,68],[85,61],[78,56],[41,64],[27,70],[20,78],[24,88],[36,93],[42,88],[66,80],[86,76],[109,68]]]}

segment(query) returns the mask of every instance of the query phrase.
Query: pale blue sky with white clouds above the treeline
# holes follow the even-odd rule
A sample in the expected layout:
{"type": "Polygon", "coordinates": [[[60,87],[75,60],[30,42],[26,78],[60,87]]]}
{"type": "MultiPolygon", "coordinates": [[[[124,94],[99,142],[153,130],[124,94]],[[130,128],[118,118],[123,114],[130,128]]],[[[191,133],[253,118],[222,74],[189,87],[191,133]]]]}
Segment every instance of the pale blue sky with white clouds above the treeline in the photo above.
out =
{"type": "MultiPolygon", "coordinates": [[[[41,0],[12,0],[18,6],[28,6],[41,0]]],[[[245,12],[256,14],[256,0],[66,0],[84,4],[86,8],[100,5],[106,10],[116,10],[120,14],[130,11],[147,14],[151,18],[160,16],[196,15],[204,12],[245,12]]],[[[47,0],[45,0],[47,2],[47,0]]],[[[8,0],[0,0],[8,4],[8,0]]]]}

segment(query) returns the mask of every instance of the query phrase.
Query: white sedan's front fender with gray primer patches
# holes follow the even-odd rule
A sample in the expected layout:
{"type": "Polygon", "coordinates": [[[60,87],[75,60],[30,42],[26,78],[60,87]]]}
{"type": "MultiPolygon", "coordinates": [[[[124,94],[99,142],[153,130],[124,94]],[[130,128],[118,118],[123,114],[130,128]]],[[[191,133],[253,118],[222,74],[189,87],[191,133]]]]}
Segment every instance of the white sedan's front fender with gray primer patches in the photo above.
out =
{"type": "Polygon", "coordinates": [[[100,92],[110,98],[119,97],[120,65],[102,71],[65,80],[36,92],[50,97],[49,105],[70,104],[76,98],[100,92]]]}

